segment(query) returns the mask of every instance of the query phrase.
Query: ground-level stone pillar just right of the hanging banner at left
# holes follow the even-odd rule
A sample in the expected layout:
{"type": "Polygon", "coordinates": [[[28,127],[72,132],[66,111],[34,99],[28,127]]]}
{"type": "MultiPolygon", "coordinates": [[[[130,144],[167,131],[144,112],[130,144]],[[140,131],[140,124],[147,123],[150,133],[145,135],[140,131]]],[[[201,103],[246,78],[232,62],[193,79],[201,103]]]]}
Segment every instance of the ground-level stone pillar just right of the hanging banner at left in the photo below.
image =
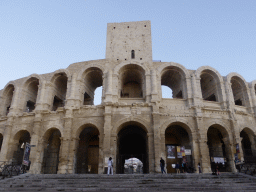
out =
{"type": "Polygon", "coordinates": [[[39,140],[41,138],[40,130],[41,130],[41,121],[42,121],[42,114],[36,114],[34,119],[34,128],[33,133],[31,136],[31,142],[30,144],[35,147],[31,147],[29,160],[31,161],[30,165],[30,173],[33,174],[39,174],[41,171],[41,164],[39,164],[39,161],[37,161],[37,157],[41,153],[41,148],[38,146],[39,140]]]}

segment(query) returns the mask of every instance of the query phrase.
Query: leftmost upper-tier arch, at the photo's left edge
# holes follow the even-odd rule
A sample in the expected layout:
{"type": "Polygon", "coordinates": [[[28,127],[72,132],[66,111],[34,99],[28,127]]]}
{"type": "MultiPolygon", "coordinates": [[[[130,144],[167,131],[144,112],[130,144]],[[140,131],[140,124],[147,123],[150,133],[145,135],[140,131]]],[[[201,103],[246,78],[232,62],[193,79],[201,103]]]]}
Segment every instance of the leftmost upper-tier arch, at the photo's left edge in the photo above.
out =
{"type": "Polygon", "coordinates": [[[12,107],[12,101],[14,97],[15,84],[13,82],[9,82],[3,89],[2,97],[0,102],[2,103],[0,107],[0,114],[7,115],[10,112],[10,108],[12,107]]]}

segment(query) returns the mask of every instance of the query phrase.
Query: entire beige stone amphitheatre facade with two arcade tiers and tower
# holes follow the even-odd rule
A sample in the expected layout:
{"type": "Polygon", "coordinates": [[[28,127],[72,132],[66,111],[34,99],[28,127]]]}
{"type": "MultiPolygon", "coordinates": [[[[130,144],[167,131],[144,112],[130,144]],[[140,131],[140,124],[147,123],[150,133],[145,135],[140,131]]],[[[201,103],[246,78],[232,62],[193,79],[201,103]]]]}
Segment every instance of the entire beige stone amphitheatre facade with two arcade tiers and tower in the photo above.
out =
{"type": "Polygon", "coordinates": [[[182,161],[208,173],[216,160],[236,172],[235,158],[256,156],[255,93],[256,81],[237,73],[153,61],[150,21],[109,23],[105,59],[0,90],[0,161],[21,164],[27,142],[34,174],[102,174],[110,156],[115,173],[131,157],[143,173],[160,172],[161,157],[169,173],[182,161]],[[101,86],[102,102],[94,105],[101,86]]]}

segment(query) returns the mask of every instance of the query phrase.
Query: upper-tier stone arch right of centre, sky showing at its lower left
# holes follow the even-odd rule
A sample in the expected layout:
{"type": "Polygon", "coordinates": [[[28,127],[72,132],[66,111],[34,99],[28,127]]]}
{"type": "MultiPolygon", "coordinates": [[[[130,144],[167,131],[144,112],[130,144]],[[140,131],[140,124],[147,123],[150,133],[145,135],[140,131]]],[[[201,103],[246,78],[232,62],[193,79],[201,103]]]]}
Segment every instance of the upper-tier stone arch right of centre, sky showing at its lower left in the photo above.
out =
{"type": "Polygon", "coordinates": [[[162,86],[166,86],[172,90],[172,96],[167,98],[188,98],[187,80],[190,78],[187,69],[178,63],[165,63],[157,69],[159,77],[158,81],[161,82],[159,92],[163,94],[162,86]]]}

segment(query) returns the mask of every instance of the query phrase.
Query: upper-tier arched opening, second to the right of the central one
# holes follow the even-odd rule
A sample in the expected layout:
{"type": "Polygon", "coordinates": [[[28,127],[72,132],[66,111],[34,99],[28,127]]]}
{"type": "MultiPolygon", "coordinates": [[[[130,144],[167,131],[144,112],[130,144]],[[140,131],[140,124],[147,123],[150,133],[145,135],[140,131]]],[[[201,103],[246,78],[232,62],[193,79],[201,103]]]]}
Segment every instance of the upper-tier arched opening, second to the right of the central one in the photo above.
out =
{"type": "Polygon", "coordinates": [[[214,76],[216,75],[210,70],[204,70],[200,76],[202,97],[206,101],[219,101],[218,82],[214,76]]]}

